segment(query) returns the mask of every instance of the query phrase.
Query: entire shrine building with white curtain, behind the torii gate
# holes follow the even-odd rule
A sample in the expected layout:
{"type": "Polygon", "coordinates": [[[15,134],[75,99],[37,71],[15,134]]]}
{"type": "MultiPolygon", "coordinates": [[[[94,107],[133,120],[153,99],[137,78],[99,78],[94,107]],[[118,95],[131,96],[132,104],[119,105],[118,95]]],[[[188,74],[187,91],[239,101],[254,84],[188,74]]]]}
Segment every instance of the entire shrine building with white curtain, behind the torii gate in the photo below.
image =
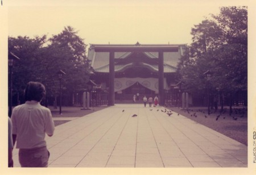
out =
{"type": "Polygon", "coordinates": [[[90,44],[88,59],[94,69],[91,80],[108,93],[108,105],[146,97],[165,102],[165,94],[177,84],[175,72],[185,44],[90,44]]]}

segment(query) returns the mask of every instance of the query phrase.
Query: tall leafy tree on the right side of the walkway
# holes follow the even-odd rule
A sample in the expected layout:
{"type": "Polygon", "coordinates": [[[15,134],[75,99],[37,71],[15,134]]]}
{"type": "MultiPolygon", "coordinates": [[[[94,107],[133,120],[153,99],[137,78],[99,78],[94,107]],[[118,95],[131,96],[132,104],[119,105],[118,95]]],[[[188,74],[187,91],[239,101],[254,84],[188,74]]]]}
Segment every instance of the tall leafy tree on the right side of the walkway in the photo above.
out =
{"type": "Polygon", "coordinates": [[[212,73],[213,92],[247,90],[247,7],[221,7],[219,15],[195,25],[191,35],[193,42],[177,69],[188,91],[206,86],[201,76],[206,70],[212,73]]]}

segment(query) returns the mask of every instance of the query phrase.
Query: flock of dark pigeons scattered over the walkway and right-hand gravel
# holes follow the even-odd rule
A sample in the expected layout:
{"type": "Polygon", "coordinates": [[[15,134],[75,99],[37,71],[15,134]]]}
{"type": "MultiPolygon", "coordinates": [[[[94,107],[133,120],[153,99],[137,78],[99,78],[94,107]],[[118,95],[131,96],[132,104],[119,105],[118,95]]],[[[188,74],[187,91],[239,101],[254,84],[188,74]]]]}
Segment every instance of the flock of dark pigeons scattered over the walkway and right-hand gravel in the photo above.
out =
{"type": "MultiPolygon", "coordinates": [[[[150,111],[152,111],[153,109],[150,109],[150,111]]],[[[122,112],[124,112],[125,110],[122,110],[122,112]]],[[[159,111],[159,109],[157,109],[156,111],[159,111]]],[[[167,110],[166,108],[164,109],[164,110],[162,110],[161,109],[161,111],[162,111],[162,113],[166,113],[168,116],[171,116],[173,113],[172,113],[172,111],[171,110],[167,110]]],[[[227,111],[227,109],[224,109],[223,111],[221,111],[220,112],[220,114],[218,114],[217,116],[216,116],[216,121],[221,117],[221,115],[223,115],[223,114],[225,114],[226,113],[226,111],[227,111]]],[[[190,114],[191,116],[194,116],[194,117],[197,117],[197,113],[204,113],[205,114],[205,111],[203,111],[203,110],[196,110],[196,111],[193,111],[193,110],[187,110],[187,113],[188,114],[190,114]]],[[[210,114],[213,114],[214,112],[210,112],[209,113],[209,115],[210,114]]],[[[244,115],[245,115],[245,113],[246,113],[246,110],[245,110],[245,108],[243,108],[243,109],[234,109],[234,110],[230,110],[230,112],[229,112],[229,115],[231,116],[232,114],[236,114],[236,115],[240,115],[240,118],[242,118],[244,115]]],[[[180,115],[180,114],[177,114],[177,115],[180,115]]],[[[132,117],[135,117],[135,116],[138,116],[137,114],[133,114],[132,115],[132,117]]],[[[208,118],[208,115],[204,115],[204,117],[205,118],[208,118]]],[[[223,119],[225,119],[226,117],[224,116],[223,117],[223,119]]],[[[235,117],[235,116],[232,116],[232,118],[233,118],[233,120],[237,120],[238,118],[237,117],[235,117]]]]}

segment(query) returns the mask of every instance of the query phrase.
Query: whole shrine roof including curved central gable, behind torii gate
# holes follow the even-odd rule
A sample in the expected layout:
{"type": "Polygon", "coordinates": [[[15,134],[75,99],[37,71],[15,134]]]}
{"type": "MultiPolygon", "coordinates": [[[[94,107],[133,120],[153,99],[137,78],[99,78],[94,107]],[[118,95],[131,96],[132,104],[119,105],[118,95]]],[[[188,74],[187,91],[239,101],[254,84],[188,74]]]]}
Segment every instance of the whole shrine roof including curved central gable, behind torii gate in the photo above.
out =
{"type": "MultiPolygon", "coordinates": [[[[149,44],[148,44],[149,45],[149,44]]],[[[146,45],[146,46],[148,46],[146,45]]],[[[170,45],[170,44],[168,44],[170,45]]],[[[150,44],[150,47],[161,47],[161,46],[168,46],[164,44],[150,44]]],[[[88,59],[91,61],[92,68],[94,69],[94,72],[100,72],[100,73],[108,73],[109,72],[109,52],[96,52],[95,47],[102,46],[102,44],[90,44],[90,48],[88,51],[88,59]]],[[[131,47],[134,45],[107,45],[106,46],[122,46],[122,47],[131,47]]],[[[145,45],[143,45],[145,46],[145,45]]],[[[177,64],[179,63],[180,57],[183,55],[185,51],[185,44],[172,44],[171,46],[177,47],[177,51],[172,52],[163,52],[164,57],[164,73],[172,73],[176,72],[177,64]]],[[[131,60],[133,57],[134,52],[114,52],[114,59],[115,59],[115,72],[122,72],[126,68],[129,68],[131,66],[144,66],[152,70],[152,72],[158,72],[158,64],[156,62],[152,62],[151,60],[158,60],[158,52],[141,52],[143,53],[143,57],[146,57],[146,60],[144,59],[144,62],[140,62],[138,64],[134,64],[134,62],[129,62],[129,59],[131,60]],[[116,64],[119,60],[127,60],[126,63],[122,64],[116,64]],[[148,62],[147,62],[148,60],[148,62]]]]}

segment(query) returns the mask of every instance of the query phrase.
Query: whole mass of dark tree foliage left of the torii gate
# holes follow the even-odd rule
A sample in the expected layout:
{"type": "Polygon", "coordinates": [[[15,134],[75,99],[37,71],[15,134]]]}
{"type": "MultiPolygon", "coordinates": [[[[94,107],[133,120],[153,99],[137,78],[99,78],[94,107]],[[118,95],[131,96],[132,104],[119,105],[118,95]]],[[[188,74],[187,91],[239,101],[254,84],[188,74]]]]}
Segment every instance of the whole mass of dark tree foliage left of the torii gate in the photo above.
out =
{"type": "Polygon", "coordinates": [[[56,96],[60,69],[66,73],[63,76],[65,93],[84,89],[92,68],[86,57],[87,45],[77,33],[67,26],[49,39],[46,35],[9,37],[9,52],[20,57],[13,69],[14,93],[22,92],[29,81],[39,81],[46,85],[48,95],[56,96]]]}

